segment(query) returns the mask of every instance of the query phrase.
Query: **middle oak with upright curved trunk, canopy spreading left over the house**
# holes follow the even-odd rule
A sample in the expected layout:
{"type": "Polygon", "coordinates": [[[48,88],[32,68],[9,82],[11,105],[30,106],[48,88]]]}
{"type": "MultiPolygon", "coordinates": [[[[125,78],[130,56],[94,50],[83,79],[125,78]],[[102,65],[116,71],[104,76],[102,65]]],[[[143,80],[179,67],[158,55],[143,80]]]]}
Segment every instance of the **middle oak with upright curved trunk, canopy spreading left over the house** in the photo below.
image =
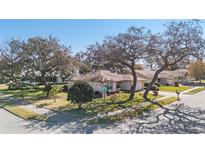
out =
{"type": "Polygon", "coordinates": [[[96,43],[89,46],[86,61],[96,69],[106,68],[121,73],[131,72],[133,76],[129,97],[131,100],[137,85],[135,66],[144,56],[148,36],[149,31],[145,28],[130,27],[125,33],[106,37],[102,44],[96,43]]]}

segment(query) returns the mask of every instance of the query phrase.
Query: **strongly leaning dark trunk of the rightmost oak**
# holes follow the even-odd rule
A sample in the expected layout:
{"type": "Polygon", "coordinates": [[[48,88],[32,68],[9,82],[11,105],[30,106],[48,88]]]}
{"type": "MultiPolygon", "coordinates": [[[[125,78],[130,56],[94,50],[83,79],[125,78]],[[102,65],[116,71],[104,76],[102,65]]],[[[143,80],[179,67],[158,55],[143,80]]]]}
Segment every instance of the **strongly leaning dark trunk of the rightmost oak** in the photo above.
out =
{"type": "Polygon", "coordinates": [[[157,79],[158,79],[158,75],[159,73],[161,73],[163,70],[165,69],[165,66],[161,67],[160,69],[158,69],[155,74],[154,74],[154,77],[152,79],[152,81],[148,84],[144,94],[143,94],[143,97],[145,100],[147,101],[150,101],[148,98],[147,98],[147,95],[149,94],[150,90],[152,89],[152,86],[156,83],[157,79]]]}

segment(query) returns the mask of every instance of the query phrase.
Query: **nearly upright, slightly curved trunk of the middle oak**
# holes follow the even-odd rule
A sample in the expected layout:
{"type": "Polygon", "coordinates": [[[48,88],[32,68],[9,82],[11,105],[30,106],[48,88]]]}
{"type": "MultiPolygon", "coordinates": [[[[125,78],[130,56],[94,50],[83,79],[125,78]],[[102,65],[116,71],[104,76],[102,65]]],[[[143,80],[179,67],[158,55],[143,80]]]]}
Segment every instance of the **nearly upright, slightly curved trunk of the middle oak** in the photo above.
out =
{"type": "Polygon", "coordinates": [[[136,89],[136,85],[137,85],[137,74],[135,72],[135,63],[134,61],[132,62],[132,67],[130,68],[131,72],[132,72],[132,76],[133,76],[133,83],[130,89],[130,96],[128,101],[132,100],[135,96],[135,89],[136,89]]]}

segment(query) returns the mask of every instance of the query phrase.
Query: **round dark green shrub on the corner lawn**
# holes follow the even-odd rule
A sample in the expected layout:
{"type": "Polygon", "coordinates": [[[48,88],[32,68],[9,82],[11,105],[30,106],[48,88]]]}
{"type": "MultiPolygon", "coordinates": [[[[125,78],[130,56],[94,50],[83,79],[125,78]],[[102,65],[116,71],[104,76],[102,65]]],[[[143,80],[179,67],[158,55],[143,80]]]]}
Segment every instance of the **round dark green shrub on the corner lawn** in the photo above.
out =
{"type": "Polygon", "coordinates": [[[81,108],[83,103],[92,101],[92,99],[93,88],[86,82],[76,81],[69,90],[68,100],[71,100],[72,103],[76,103],[78,108],[81,108]]]}

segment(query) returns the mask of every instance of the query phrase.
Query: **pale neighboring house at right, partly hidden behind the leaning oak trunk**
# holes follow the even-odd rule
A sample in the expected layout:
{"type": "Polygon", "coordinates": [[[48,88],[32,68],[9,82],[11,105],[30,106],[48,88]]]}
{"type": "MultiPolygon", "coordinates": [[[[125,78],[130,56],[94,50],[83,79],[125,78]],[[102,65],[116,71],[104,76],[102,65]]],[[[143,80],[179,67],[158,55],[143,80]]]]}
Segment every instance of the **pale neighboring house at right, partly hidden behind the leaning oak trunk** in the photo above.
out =
{"type": "MultiPolygon", "coordinates": [[[[150,83],[154,77],[155,71],[136,70],[137,76],[145,79],[145,83],[150,83]]],[[[188,70],[179,69],[174,71],[162,71],[158,76],[158,82],[161,84],[174,85],[175,82],[189,80],[188,70]]]]}

